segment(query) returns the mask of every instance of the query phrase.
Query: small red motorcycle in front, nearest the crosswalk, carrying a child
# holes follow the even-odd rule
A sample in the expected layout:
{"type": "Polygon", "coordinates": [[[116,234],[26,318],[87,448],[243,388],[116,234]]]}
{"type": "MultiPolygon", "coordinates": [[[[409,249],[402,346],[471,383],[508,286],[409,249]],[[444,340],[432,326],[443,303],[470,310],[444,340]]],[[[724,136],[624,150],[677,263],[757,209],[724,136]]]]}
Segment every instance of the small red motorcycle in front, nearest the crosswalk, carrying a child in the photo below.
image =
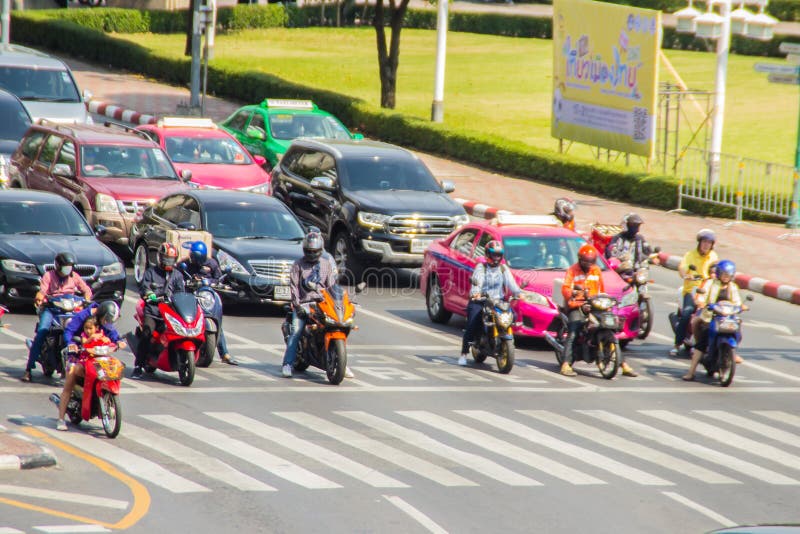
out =
{"type": "MultiPolygon", "coordinates": [[[[125,374],[125,364],[112,355],[116,350],[117,346],[113,343],[82,350],[80,361],[85,376],[78,378],[67,401],[67,416],[72,424],[77,426],[81,421],[98,417],[106,436],[112,439],[117,437],[122,428],[119,388],[125,374]]],[[[50,400],[58,405],[61,397],[53,393],[50,400]]]]}

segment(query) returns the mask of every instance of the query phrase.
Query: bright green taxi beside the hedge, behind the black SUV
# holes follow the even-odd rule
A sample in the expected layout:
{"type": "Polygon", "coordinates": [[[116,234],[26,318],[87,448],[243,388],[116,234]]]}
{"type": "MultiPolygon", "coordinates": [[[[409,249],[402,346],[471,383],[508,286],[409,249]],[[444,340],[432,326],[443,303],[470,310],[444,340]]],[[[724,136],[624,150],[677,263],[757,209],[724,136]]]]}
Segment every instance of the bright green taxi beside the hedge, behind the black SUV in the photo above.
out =
{"type": "Polygon", "coordinates": [[[297,137],[363,139],[353,134],[333,115],[310,100],[266,98],[244,106],[220,125],[253,155],[264,156],[275,166],[297,137]]]}

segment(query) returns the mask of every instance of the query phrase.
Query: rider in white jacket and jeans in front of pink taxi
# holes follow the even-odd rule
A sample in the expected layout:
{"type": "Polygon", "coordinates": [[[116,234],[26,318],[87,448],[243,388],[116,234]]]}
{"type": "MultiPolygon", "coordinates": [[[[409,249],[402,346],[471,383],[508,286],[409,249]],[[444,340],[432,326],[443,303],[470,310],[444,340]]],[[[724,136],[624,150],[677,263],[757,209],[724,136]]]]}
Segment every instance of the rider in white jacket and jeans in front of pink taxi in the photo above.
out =
{"type": "Polygon", "coordinates": [[[503,244],[497,240],[489,241],[484,255],[486,263],[479,263],[472,273],[472,287],[467,304],[467,325],[464,327],[464,336],[461,340],[458,365],[467,365],[467,350],[475,340],[476,331],[481,325],[483,299],[488,297],[492,300],[501,300],[509,292],[515,297],[520,294],[519,285],[514,280],[511,269],[502,263],[505,256],[503,244]]]}

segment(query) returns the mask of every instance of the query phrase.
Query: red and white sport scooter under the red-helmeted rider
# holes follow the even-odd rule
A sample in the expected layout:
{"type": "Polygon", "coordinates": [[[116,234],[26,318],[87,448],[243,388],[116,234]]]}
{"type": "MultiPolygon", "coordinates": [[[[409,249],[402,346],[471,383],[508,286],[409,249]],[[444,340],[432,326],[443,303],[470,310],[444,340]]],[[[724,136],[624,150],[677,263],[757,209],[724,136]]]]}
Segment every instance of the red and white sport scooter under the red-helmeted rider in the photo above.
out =
{"type": "MultiPolygon", "coordinates": [[[[177,371],[181,385],[190,386],[206,339],[203,310],[192,293],[175,293],[169,301],[159,297],[157,302],[162,325],[152,334],[151,352],[144,369],[147,373],[154,373],[156,369],[167,373],[177,371]]],[[[136,327],[138,338],[144,323],[143,300],[136,305],[134,317],[139,325],[136,327]]]]}

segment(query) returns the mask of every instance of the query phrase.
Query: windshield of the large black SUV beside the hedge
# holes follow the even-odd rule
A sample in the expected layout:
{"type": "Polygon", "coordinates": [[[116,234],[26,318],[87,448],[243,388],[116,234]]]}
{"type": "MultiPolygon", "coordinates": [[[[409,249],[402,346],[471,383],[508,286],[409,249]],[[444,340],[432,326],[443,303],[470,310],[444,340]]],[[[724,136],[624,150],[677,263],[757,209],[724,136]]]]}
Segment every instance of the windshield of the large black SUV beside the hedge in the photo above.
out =
{"type": "Polygon", "coordinates": [[[442,191],[427,167],[414,158],[345,158],[342,187],[351,191],[442,191]]]}

